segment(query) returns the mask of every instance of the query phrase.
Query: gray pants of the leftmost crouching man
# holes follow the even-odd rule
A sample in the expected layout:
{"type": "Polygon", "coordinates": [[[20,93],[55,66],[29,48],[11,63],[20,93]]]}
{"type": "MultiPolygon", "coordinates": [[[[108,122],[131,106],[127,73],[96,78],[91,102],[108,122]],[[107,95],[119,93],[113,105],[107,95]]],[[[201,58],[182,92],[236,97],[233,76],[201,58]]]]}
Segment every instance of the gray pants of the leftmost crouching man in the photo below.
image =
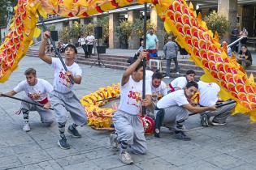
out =
{"type": "MultiPolygon", "coordinates": [[[[34,100],[30,99],[29,97],[24,97],[24,100],[34,102],[34,100]]],[[[46,110],[40,106],[34,105],[34,104],[28,104],[26,102],[21,102],[21,111],[24,112],[25,110],[28,111],[37,111],[41,117],[42,123],[53,123],[54,122],[54,114],[50,112],[50,110],[46,110]]]]}

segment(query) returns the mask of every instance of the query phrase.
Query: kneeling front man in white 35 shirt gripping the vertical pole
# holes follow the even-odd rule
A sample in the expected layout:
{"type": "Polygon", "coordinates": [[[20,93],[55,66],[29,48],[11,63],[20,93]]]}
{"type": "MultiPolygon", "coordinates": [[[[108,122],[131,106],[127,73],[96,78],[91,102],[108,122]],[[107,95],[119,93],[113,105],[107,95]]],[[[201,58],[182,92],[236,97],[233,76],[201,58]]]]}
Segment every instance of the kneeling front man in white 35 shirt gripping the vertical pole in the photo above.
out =
{"type": "Polygon", "coordinates": [[[132,153],[145,154],[146,142],[144,128],[138,115],[141,106],[151,104],[150,84],[145,83],[145,100],[142,100],[143,60],[147,53],[142,52],[136,61],[124,72],[121,81],[121,98],[113,122],[116,134],[111,134],[111,149],[116,151],[119,145],[119,159],[124,164],[133,164],[128,147],[132,153]]]}

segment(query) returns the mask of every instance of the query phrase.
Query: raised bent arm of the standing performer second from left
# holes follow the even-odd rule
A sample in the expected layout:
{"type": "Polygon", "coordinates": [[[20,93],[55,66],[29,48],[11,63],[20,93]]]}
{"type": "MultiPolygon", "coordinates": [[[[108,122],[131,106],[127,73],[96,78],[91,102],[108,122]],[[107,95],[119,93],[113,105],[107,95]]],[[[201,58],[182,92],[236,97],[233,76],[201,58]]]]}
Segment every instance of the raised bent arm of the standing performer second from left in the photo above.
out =
{"type": "Polygon", "coordinates": [[[52,60],[50,56],[46,55],[46,44],[48,41],[48,38],[50,37],[50,32],[44,32],[43,39],[41,40],[41,45],[39,48],[39,57],[46,63],[51,64],[52,60]]]}

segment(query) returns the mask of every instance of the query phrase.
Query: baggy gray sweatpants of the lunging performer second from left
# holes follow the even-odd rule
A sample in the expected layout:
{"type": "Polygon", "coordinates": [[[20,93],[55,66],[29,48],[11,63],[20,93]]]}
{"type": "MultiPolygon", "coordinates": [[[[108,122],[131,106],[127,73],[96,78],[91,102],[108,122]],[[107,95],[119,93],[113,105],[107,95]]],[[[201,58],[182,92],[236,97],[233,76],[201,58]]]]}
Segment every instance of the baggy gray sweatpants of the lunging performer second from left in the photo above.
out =
{"type": "Polygon", "coordinates": [[[76,125],[85,125],[87,123],[85,108],[83,108],[80,104],[80,100],[77,99],[72,91],[68,93],[52,91],[50,94],[50,103],[56,113],[57,122],[67,122],[67,112],[69,112],[76,125]]]}

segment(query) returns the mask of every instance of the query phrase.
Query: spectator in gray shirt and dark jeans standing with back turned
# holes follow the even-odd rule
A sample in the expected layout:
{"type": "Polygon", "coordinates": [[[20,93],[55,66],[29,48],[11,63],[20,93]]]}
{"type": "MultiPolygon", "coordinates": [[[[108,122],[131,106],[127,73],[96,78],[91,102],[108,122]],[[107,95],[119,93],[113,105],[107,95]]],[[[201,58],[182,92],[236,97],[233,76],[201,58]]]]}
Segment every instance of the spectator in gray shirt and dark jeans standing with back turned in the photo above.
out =
{"type": "Polygon", "coordinates": [[[167,59],[167,75],[165,77],[167,79],[170,78],[171,60],[175,62],[176,74],[180,74],[177,60],[179,46],[176,42],[172,41],[172,36],[169,36],[168,40],[167,44],[163,46],[163,53],[167,59]]]}

